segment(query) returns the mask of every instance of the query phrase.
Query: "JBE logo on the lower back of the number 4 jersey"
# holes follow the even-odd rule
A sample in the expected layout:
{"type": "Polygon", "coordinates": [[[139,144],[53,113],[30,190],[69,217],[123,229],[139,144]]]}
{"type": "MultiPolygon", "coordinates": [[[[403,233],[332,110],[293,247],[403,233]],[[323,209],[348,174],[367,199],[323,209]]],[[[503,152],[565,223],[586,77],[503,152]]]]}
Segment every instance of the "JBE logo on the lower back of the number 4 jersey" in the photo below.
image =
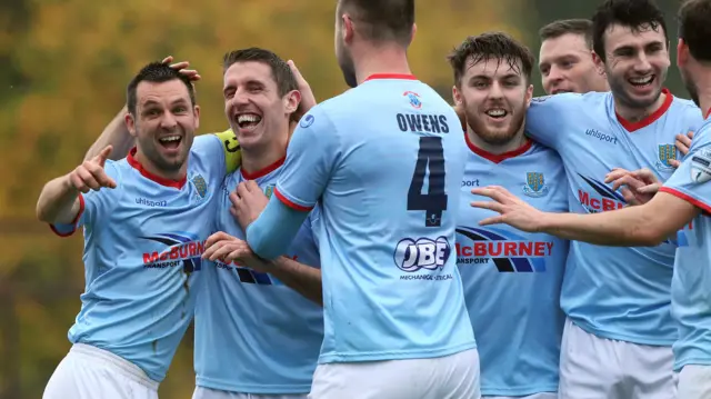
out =
{"type": "Polygon", "coordinates": [[[445,237],[439,237],[434,241],[429,238],[417,241],[404,238],[398,242],[393,258],[395,266],[403,271],[434,270],[444,266],[450,252],[451,247],[445,237]]]}

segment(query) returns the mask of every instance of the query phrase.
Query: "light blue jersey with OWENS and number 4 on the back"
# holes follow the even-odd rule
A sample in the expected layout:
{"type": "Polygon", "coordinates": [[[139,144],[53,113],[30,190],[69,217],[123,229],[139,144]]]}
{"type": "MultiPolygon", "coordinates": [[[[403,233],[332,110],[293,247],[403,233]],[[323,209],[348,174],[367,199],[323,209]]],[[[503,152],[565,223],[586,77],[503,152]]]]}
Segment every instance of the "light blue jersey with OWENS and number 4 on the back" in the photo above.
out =
{"type": "Polygon", "coordinates": [[[452,108],[412,76],[371,77],[301,119],[274,194],[320,205],[320,362],[475,347],[452,256],[465,151],[452,108]]]}

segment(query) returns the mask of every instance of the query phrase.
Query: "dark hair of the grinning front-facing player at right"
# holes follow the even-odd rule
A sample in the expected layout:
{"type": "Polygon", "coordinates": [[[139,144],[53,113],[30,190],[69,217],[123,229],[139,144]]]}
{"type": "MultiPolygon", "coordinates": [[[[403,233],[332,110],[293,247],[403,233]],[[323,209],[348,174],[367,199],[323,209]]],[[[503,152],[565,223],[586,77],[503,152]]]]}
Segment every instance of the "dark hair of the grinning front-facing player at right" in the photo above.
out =
{"type": "Polygon", "coordinates": [[[592,49],[602,61],[605,61],[604,33],[612,24],[628,27],[633,32],[661,28],[669,44],[664,13],[653,0],[605,0],[592,17],[592,49]]]}

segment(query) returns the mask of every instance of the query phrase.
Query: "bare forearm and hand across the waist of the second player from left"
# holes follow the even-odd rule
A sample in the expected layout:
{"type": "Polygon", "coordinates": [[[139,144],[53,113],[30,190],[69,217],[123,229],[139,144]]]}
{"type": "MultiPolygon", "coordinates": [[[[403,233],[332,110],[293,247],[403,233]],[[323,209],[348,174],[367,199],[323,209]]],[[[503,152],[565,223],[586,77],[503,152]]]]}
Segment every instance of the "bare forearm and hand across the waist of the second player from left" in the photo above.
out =
{"type": "Polygon", "coordinates": [[[208,238],[202,258],[211,261],[233,261],[257,271],[268,272],[304,298],[323,306],[321,270],[317,268],[287,257],[266,261],[254,256],[246,241],[222,231],[208,238]]]}

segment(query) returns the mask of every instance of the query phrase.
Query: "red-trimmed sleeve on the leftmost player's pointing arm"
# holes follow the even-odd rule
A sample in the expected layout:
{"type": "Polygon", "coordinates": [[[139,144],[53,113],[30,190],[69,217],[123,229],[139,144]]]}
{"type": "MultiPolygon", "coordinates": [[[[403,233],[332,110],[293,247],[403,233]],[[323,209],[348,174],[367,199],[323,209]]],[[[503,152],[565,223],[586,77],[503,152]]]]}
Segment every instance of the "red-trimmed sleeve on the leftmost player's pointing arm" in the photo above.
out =
{"type": "Polygon", "coordinates": [[[118,202],[117,197],[121,190],[121,173],[116,162],[107,160],[103,170],[108,177],[117,182],[117,188],[102,188],[99,191],[89,191],[86,194],[79,194],[79,213],[71,223],[50,225],[52,231],[60,237],[69,237],[77,231],[78,228],[86,226],[93,227],[102,220],[103,216],[110,215],[111,209],[118,202]]]}

